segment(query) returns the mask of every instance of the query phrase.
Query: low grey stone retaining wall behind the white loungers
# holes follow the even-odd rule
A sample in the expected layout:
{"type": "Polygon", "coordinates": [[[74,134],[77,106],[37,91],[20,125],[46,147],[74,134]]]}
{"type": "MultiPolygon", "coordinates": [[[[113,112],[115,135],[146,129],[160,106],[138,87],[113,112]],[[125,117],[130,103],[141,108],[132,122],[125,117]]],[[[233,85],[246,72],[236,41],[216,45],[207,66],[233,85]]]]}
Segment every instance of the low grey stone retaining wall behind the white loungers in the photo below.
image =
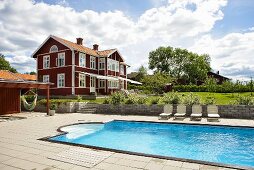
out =
{"type": "MultiPolygon", "coordinates": [[[[163,112],[162,105],[111,105],[111,104],[87,104],[87,103],[65,103],[60,104],[56,113],[82,112],[82,109],[94,108],[94,114],[116,114],[116,115],[143,115],[158,116],[163,112]]],[[[173,113],[177,105],[174,105],[173,113]]],[[[219,114],[222,118],[254,119],[254,106],[246,105],[218,105],[219,114]]],[[[37,105],[35,111],[46,111],[46,106],[37,105]]],[[[85,113],[85,111],[84,111],[85,113]]],[[[207,117],[207,107],[202,106],[203,117],[207,117]]],[[[191,114],[191,106],[187,106],[186,116],[191,114]]]]}

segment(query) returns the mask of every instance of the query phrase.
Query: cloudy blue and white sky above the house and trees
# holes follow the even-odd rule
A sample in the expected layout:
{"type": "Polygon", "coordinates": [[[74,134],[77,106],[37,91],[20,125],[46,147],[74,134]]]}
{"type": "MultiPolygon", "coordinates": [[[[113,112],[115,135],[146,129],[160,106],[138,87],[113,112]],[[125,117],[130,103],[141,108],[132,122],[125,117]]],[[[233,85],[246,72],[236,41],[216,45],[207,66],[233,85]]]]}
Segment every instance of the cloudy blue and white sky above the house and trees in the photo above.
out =
{"type": "Polygon", "coordinates": [[[117,48],[136,71],[160,46],[209,54],[214,71],[254,76],[253,0],[0,0],[0,53],[19,72],[55,35],[99,50],[117,48]]]}

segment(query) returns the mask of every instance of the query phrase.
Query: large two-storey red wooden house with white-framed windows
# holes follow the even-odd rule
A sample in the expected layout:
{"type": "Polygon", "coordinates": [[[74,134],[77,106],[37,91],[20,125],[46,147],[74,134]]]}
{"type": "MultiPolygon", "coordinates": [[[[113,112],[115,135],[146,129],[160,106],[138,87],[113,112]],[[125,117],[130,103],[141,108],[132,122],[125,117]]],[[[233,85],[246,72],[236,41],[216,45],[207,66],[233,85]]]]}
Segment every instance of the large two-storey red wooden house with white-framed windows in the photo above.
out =
{"type": "MultiPolygon", "coordinates": [[[[52,95],[110,94],[127,89],[127,64],[117,49],[99,50],[50,35],[32,54],[38,81],[54,83],[52,95]]],[[[45,95],[40,91],[40,95],[45,95]]]]}

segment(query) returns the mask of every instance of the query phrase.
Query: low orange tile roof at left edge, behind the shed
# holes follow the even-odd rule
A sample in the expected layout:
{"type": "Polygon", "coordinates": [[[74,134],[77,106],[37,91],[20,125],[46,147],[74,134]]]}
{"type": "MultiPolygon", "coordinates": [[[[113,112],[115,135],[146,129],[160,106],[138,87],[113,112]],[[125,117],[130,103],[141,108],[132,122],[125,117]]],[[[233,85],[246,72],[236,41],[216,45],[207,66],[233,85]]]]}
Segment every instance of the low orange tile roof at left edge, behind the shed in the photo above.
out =
{"type": "Polygon", "coordinates": [[[0,80],[36,81],[36,75],[12,73],[8,70],[0,70],[0,80]]]}

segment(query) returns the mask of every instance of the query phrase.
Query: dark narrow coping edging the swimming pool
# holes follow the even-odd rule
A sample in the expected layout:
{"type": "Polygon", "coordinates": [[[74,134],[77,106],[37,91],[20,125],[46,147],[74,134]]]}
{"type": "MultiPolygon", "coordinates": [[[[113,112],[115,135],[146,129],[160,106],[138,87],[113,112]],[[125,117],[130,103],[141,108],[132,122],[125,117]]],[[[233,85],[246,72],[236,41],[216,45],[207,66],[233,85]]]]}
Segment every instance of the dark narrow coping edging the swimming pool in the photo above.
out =
{"type": "Polygon", "coordinates": [[[207,123],[206,124],[199,124],[199,123],[185,123],[185,122],[155,122],[155,121],[149,121],[149,120],[148,121],[143,121],[143,120],[137,121],[137,120],[112,119],[112,120],[107,121],[107,122],[80,122],[80,123],[73,123],[73,124],[63,125],[63,126],[60,126],[60,127],[57,128],[57,132],[59,132],[59,134],[53,135],[53,136],[42,137],[42,138],[39,138],[37,140],[47,141],[47,142],[51,142],[51,143],[65,144],[65,145],[70,145],[70,146],[78,146],[78,147],[95,149],[95,150],[123,153],[123,154],[128,154],[128,155],[137,155],[137,156],[152,157],[152,158],[158,158],[158,159],[174,160],[174,161],[181,161],[181,162],[188,162],[188,163],[197,163],[197,164],[217,166],[217,167],[223,167],[223,168],[233,168],[233,169],[241,169],[241,170],[253,170],[254,169],[252,167],[245,167],[245,166],[238,166],[238,165],[215,163],[215,162],[195,160],[195,159],[177,158],[177,157],[170,157],[170,156],[145,154],[145,153],[139,153],[139,152],[124,151],[124,150],[118,150],[118,149],[92,146],[92,145],[75,144],[75,143],[70,143],[70,142],[50,140],[50,138],[68,134],[68,132],[65,132],[65,131],[61,130],[61,128],[63,128],[63,127],[72,126],[72,125],[79,125],[79,124],[105,124],[105,123],[108,123],[108,122],[111,122],[111,121],[125,121],[125,122],[139,122],[139,123],[163,123],[163,124],[184,124],[184,125],[205,125],[205,126],[226,126],[226,127],[235,127],[235,128],[253,128],[254,129],[254,127],[252,127],[252,126],[219,125],[219,124],[207,124],[207,123]]]}

